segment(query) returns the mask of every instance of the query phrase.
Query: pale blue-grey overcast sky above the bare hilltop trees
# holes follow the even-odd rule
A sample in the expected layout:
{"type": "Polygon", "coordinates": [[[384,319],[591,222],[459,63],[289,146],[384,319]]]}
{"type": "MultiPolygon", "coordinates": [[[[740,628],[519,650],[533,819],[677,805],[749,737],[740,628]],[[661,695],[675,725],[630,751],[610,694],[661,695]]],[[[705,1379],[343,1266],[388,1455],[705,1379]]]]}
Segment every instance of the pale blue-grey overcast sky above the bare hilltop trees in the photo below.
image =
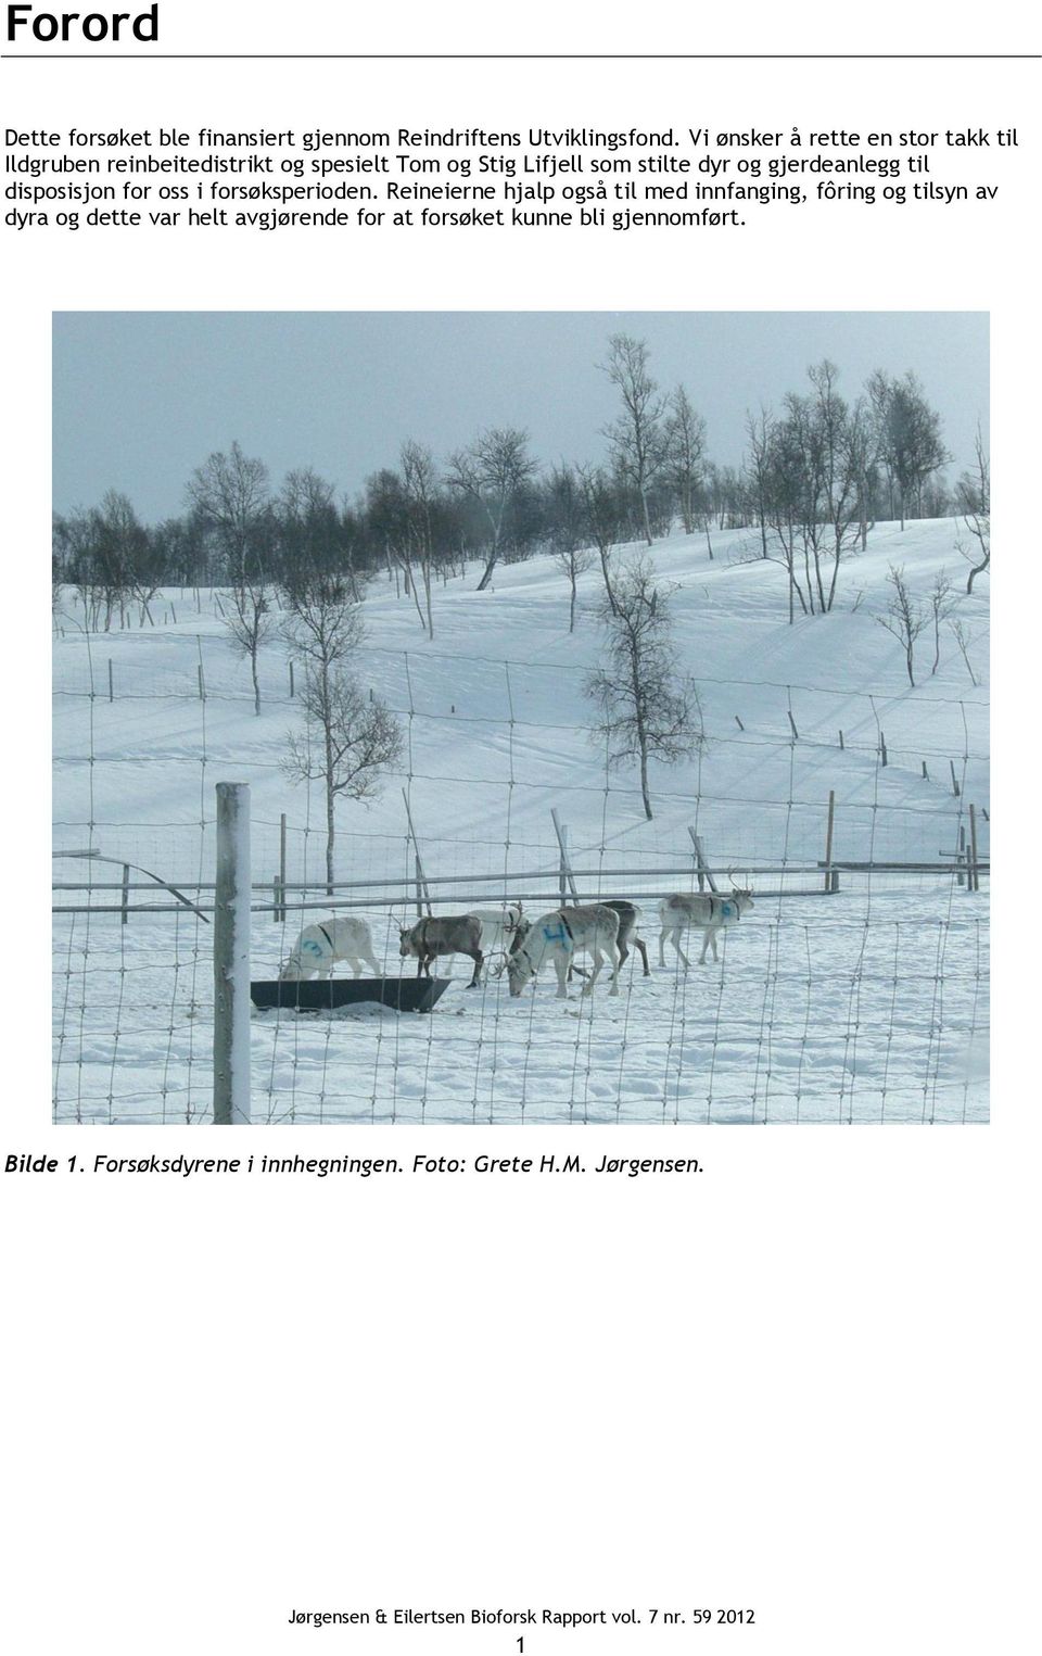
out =
{"type": "Polygon", "coordinates": [[[313,465],[352,495],[405,437],[443,459],[486,426],[523,426],[544,462],[604,452],[612,333],[647,339],[734,465],[746,409],[807,388],[822,356],[857,396],[875,368],[923,381],[954,454],[987,429],[982,311],[61,311],[55,315],[55,507],[126,492],[152,522],[192,469],[238,439],[278,484],[313,465]]]}

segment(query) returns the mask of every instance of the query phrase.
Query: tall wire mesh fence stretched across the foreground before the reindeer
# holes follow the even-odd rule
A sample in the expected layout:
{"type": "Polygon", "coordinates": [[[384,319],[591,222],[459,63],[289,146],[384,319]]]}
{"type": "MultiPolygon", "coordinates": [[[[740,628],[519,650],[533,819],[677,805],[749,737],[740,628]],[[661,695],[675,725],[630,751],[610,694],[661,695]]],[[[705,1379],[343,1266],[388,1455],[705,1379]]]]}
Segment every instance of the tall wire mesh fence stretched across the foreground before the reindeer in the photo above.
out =
{"type": "Polygon", "coordinates": [[[498,959],[466,989],[470,960],[455,959],[428,1015],[256,1010],[255,1123],[986,1119],[974,881],[987,884],[989,823],[969,811],[986,798],[982,696],[706,676],[706,744],[655,777],[648,826],[632,775],[590,749],[579,669],[362,651],[405,757],[370,823],[337,830],[329,891],[323,802],[291,793],[280,768],[299,717],[288,662],[258,717],[213,639],[65,643],[56,1121],[212,1119],[213,785],[228,777],[253,792],[255,979],[276,979],[323,914],[364,917],[397,977],[415,970],[399,927],[418,909],[519,899],[536,916],[572,891],[635,901],[650,952],[650,975],[632,956],[615,995],[577,980],[559,1000],[544,970],[513,997],[498,959]],[[672,949],[660,960],[657,904],[698,889],[698,846],[756,904],[721,932],[719,964],[686,970],[672,949]]]}

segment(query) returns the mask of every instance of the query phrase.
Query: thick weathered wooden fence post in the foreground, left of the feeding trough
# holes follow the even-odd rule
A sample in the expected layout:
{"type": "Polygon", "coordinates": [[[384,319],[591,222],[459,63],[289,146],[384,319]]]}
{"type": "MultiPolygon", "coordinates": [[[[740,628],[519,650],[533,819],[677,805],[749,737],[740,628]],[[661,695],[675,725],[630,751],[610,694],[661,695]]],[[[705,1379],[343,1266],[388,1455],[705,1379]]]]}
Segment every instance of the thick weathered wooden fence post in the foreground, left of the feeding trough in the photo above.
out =
{"type": "Polygon", "coordinates": [[[250,1121],[250,787],[217,783],[213,1123],[250,1121]]]}

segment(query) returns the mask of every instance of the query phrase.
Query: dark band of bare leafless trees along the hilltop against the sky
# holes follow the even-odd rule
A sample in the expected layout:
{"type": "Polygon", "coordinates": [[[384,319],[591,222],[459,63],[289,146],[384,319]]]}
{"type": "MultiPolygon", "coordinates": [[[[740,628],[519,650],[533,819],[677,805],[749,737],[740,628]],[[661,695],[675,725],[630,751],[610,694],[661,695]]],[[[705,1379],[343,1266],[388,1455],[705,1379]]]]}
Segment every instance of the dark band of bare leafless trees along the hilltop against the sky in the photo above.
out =
{"type": "MultiPolygon", "coordinates": [[[[786,570],[792,616],[832,608],[840,565],[878,517],[953,510],[979,538],[984,474],[977,467],[973,487],[966,477],[946,495],[939,416],[913,374],[877,373],[847,402],[835,364],[822,361],[809,369],[809,392],[749,417],[743,465],[719,467],[688,389],[658,384],[645,341],[614,335],[600,369],[615,414],[599,464],[543,469],[524,431],[491,427],[443,462],[405,440],[397,465],[337,500],[313,470],[273,490],[263,460],[232,444],[195,470],[182,517],[146,527],[126,495],[109,492],[101,507],[56,518],[55,581],[78,586],[89,624],[106,628],[124,624],[134,603],[147,611],[160,583],[228,586],[255,664],[271,586],[289,583],[301,548],[314,556],[319,545],[349,581],[385,571],[433,638],[438,581],[473,558],[485,590],[501,561],[552,551],[574,628],[579,575],[597,561],[610,603],[612,551],[675,527],[703,532],[710,556],[715,530],[753,528],[761,555],[786,570]]],[[[982,450],[977,459],[986,465],[982,450]]],[[[986,551],[976,565],[987,566],[986,551]]]]}

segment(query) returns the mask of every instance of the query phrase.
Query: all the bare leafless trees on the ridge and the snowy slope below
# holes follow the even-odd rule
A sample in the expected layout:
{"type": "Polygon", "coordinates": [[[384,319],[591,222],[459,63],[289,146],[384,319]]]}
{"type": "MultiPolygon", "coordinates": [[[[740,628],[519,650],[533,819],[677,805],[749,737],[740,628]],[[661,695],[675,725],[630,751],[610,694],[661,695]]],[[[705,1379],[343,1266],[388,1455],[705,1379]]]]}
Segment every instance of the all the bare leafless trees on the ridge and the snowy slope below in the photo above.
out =
{"type": "MultiPolygon", "coordinates": [[[[650,546],[680,525],[705,533],[711,558],[715,530],[748,528],[749,555],[784,570],[791,621],[834,608],[840,570],[863,550],[878,517],[903,525],[953,512],[971,566],[968,593],[989,568],[984,442],[977,437],[974,465],[949,497],[939,480],[949,459],[939,416],[915,374],[878,371],[848,401],[825,359],[807,371],[809,389],[748,417],[743,465],[718,467],[690,392],[658,384],[645,341],[614,335],[600,369],[615,412],[602,431],[599,464],[562,460],[544,470],[528,432],[491,427],[442,464],[405,440],[397,465],[369,477],[356,500],[342,500],[311,469],[273,489],[265,462],[233,442],[195,469],[180,517],[146,527],[114,490],[99,507],[56,517],[55,591],[74,586],[84,626],[108,629],[127,624],[132,608],[141,624],[151,621],[162,585],[222,586],[225,626],[250,662],[258,714],[261,647],[276,629],[288,639],[304,666],[304,729],[289,739],[286,770],[324,785],[332,881],[336,800],[369,798],[402,747],[390,710],[349,671],[362,638],[359,604],[377,573],[415,606],[433,639],[438,583],[463,576],[468,560],[480,560],[483,591],[501,561],[552,553],[567,578],[569,631],[579,578],[597,566],[605,664],[587,682],[594,734],[612,763],[638,767],[650,816],[650,758],[675,763],[695,752],[701,715],[673,647],[670,590],[655,583],[645,558],[622,548],[650,546]]],[[[971,641],[951,616],[951,583],[938,581],[928,606],[911,596],[901,568],[891,568],[890,588],[878,619],[900,639],[910,682],[928,628],[936,671],[943,623],[973,671],[971,641]]]]}

